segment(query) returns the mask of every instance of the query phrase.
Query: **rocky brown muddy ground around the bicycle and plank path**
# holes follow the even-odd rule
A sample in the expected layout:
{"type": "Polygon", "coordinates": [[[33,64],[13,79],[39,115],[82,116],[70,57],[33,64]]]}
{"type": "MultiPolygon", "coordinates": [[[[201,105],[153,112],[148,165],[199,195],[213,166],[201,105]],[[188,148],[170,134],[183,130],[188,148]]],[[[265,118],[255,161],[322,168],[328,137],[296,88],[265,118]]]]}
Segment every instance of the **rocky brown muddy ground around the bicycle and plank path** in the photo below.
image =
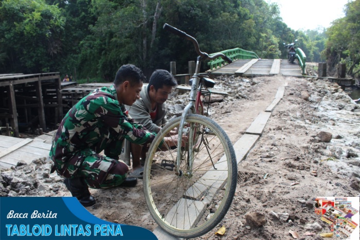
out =
{"type": "MultiPolygon", "coordinates": [[[[211,118],[235,143],[272,103],[279,86],[285,86],[283,99],[238,166],[237,192],[230,210],[217,228],[199,239],[294,239],[289,230],[296,231],[299,239],[322,239],[318,234],[329,232],[328,224],[315,215],[312,199],[359,196],[360,110],[337,84],[283,76],[221,77],[217,88],[229,95],[211,103],[211,118]],[[320,132],[330,133],[330,142],[320,138],[320,132]],[[287,214],[278,219],[271,212],[287,214]],[[245,218],[254,213],[262,214],[260,226],[245,218]],[[226,228],[225,235],[215,235],[221,226],[226,228]],[[315,235],[303,235],[305,232],[315,235]]],[[[179,99],[184,97],[177,95],[169,102],[181,105],[179,99]]],[[[50,168],[51,162],[44,158],[1,170],[0,195],[70,196],[63,179],[50,174],[50,168]]],[[[145,204],[141,179],[135,188],[91,192],[97,204],[86,209],[95,216],[149,230],[157,227],[145,204]]]]}

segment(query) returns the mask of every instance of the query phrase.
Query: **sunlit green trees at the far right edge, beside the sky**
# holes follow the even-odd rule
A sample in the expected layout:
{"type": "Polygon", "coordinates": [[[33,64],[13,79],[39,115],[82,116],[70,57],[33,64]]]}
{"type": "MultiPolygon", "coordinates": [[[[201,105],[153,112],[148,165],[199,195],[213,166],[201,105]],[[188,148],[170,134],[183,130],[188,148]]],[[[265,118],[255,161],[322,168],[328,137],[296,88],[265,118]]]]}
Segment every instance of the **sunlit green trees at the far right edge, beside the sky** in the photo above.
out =
{"type": "Polygon", "coordinates": [[[327,30],[329,36],[323,55],[328,64],[346,63],[348,74],[360,72],[360,0],[349,2],[345,7],[345,17],[336,20],[327,30]]]}

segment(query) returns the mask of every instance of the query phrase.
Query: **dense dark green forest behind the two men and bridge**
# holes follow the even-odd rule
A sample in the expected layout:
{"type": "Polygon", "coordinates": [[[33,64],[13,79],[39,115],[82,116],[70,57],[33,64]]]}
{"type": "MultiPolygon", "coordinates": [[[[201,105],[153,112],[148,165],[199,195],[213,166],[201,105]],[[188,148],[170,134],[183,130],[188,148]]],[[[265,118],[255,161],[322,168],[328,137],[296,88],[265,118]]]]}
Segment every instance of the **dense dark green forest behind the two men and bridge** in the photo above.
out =
{"type": "MultiPolygon", "coordinates": [[[[164,23],[194,36],[208,53],[240,47],[285,58],[283,42],[299,39],[307,60],[320,61],[326,41],[321,31],[290,29],[278,6],[264,0],[3,0],[0,73],[60,71],[112,81],[122,64],[149,76],[170,61],[186,73],[196,59],[193,46],[164,31],[164,23]]],[[[330,48],[336,55],[338,48],[330,48]]]]}

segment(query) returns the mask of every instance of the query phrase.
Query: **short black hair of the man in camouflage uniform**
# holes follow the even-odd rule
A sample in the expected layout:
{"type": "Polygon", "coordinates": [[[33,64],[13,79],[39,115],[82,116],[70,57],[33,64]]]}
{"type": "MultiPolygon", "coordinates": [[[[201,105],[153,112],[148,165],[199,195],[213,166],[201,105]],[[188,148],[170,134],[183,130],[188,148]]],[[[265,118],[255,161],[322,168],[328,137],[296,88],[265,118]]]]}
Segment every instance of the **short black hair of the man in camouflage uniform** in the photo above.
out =
{"type": "Polygon", "coordinates": [[[116,72],[114,84],[115,86],[118,86],[127,80],[130,82],[131,86],[134,86],[136,84],[139,84],[140,82],[145,82],[146,77],[143,75],[140,68],[132,64],[126,64],[122,65],[116,72]]]}

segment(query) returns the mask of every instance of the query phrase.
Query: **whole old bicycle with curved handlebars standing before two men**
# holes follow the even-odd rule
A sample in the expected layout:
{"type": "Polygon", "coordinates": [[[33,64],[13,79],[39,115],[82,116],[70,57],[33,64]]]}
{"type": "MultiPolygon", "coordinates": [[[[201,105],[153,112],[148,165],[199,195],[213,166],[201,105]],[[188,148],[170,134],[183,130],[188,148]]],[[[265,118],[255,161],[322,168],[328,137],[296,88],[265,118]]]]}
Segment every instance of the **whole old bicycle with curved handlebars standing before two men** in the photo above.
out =
{"type": "Polygon", "coordinates": [[[190,80],[189,104],[181,117],[166,124],[148,151],[143,172],[143,188],[149,211],[162,229],[181,238],[201,236],[215,226],[228,211],[237,184],[237,161],[230,139],[212,119],[203,116],[202,95],[210,96],[214,81],[200,74],[207,59],[231,59],[223,53],[209,56],[200,51],[196,39],[168,24],[164,29],[194,44],[195,73],[190,80]],[[173,135],[174,132],[177,135],[173,135]],[[188,142],[177,148],[166,145],[164,137],[183,136],[188,142]],[[152,174],[153,173],[153,174],[152,174]]]}

